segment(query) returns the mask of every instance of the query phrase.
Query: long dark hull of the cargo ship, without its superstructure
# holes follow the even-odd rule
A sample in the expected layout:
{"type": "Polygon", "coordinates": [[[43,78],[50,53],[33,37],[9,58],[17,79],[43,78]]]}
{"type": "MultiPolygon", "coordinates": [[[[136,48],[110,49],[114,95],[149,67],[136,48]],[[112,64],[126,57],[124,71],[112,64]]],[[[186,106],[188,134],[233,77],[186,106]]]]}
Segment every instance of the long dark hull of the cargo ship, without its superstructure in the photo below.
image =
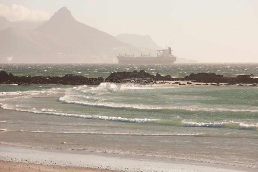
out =
{"type": "Polygon", "coordinates": [[[172,64],[176,57],[117,57],[118,64],[172,64]]]}

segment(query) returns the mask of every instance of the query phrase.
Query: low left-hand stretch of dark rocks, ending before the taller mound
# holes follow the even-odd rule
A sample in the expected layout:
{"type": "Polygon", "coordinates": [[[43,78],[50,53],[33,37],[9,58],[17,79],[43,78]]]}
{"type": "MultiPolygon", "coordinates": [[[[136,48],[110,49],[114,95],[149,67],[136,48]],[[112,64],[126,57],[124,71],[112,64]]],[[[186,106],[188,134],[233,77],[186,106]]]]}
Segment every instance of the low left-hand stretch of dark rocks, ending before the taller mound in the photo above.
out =
{"type": "Polygon", "coordinates": [[[1,84],[66,84],[66,85],[98,85],[105,80],[103,77],[87,78],[81,75],[66,74],[63,77],[51,77],[51,76],[35,76],[28,77],[13,76],[13,74],[7,74],[5,71],[0,72],[1,84]]]}

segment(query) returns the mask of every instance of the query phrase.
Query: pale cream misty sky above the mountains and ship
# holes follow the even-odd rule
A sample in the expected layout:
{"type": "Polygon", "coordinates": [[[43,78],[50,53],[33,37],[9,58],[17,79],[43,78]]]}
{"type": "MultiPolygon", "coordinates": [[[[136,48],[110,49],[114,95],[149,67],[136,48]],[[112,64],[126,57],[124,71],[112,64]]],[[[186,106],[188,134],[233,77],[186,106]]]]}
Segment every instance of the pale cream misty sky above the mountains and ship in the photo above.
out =
{"type": "Polygon", "coordinates": [[[48,20],[67,7],[88,26],[116,36],[150,35],[199,62],[258,62],[258,0],[0,0],[7,20],[48,20]]]}

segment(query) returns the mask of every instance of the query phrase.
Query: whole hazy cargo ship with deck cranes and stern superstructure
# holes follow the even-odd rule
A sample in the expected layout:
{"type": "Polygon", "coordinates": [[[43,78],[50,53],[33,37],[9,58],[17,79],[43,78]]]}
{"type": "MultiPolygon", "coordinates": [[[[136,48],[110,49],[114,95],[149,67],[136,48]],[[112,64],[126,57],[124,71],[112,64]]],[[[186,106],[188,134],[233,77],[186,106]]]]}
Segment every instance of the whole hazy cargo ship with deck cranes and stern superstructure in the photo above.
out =
{"type": "Polygon", "coordinates": [[[170,47],[157,51],[159,52],[157,56],[152,57],[150,53],[149,55],[142,55],[141,53],[141,56],[134,56],[134,53],[132,55],[119,53],[119,56],[116,57],[118,58],[118,64],[172,64],[176,61],[176,57],[171,53],[170,47]]]}

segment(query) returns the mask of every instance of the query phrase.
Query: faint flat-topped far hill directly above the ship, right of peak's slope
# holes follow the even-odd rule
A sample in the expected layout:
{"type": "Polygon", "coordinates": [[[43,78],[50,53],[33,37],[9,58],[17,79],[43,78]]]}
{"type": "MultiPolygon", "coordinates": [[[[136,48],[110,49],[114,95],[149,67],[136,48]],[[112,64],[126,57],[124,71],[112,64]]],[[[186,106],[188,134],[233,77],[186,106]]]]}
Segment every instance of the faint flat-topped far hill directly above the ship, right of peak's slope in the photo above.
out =
{"type": "Polygon", "coordinates": [[[143,48],[150,48],[153,50],[162,50],[163,48],[158,46],[158,44],[156,44],[151,36],[149,35],[137,35],[137,34],[120,34],[116,36],[117,39],[119,39],[120,41],[129,43],[133,46],[136,47],[143,47],[143,48]]]}

